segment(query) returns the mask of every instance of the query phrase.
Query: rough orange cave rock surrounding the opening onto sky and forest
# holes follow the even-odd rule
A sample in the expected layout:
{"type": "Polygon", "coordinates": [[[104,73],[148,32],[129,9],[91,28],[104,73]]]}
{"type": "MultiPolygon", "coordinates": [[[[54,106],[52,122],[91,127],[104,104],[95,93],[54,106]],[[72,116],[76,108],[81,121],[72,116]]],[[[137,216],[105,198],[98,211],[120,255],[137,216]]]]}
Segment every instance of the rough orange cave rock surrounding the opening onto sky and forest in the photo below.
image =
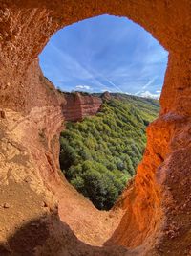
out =
{"type": "Polygon", "coordinates": [[[190,255],[190,1],[2,0],[0,8],[0,255],[190,255]],[[103,13],[138,22],[169,52],[159,118],[110,212],[61,175],[66,100],[37,62],[58,29],[103,13]]]}

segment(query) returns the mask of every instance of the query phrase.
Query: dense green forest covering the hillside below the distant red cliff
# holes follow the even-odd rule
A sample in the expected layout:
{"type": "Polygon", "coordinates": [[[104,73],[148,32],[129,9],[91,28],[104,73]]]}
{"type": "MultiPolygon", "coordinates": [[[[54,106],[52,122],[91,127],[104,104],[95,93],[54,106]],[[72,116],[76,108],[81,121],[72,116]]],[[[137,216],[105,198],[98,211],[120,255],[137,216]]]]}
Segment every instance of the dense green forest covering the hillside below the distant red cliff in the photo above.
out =
{"type": "Polygon", "coordinates": [[[157,100],[112,94],[96,116],[66,124],[60,136],[61,170],[96,208],[111,209],[135,175],[146,127],[158,114],[157,100]]]}

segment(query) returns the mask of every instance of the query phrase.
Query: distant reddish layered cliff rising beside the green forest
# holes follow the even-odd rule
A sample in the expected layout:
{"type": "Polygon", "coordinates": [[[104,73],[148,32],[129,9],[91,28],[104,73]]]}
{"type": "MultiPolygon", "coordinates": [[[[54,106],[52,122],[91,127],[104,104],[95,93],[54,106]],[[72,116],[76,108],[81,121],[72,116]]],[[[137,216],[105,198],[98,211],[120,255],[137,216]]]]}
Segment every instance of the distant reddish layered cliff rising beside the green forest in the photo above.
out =
{"type": "Polygon", "coordinates": [[[92,95],[82,95],[79,92],[63,95],[66,100],[66,104],[63,105],[66,121],[80,121],[86,116],[95,115],[102,104],[101,98],[92,95]]]}

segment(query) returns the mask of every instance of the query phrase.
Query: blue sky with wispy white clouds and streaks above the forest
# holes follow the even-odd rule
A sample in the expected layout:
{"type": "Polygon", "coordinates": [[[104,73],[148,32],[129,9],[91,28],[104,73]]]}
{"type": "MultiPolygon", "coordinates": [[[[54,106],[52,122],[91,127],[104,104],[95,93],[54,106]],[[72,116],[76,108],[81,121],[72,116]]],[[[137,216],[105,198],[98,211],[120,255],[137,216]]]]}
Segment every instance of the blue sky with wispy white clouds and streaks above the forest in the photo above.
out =
{"type": "Polygon", "coordinates": [[[138,24],[101,15],[59,30],[39,56],[63,91],[121,92],[159,98],[168,52],[138,24]]]}

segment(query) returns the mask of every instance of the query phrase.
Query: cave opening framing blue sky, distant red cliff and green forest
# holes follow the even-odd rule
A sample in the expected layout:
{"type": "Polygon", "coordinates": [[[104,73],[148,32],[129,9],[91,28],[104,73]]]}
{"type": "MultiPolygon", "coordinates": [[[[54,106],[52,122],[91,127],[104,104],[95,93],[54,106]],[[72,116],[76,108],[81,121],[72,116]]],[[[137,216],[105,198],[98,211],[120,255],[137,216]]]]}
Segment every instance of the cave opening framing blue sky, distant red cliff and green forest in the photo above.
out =
{"type": "Polygon", "coordinates": [[[136,175],[166,64],[152,35],[112,15],[58,31],[40,55],[44,76],[66,99],[61,170],[99,210],[110,210],[136,175]]]}

